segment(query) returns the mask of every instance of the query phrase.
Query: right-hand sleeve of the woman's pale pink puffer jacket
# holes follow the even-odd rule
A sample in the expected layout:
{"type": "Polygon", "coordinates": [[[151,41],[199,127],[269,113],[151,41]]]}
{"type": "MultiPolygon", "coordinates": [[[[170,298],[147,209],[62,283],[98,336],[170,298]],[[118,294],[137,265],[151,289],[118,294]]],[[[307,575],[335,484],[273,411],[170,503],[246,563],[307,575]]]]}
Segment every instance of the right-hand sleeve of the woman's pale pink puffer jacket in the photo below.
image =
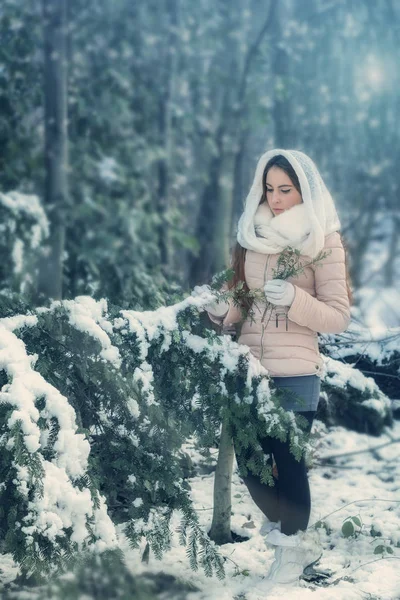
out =
{"type": "Polygon", "coordinates": [[[328,256],[312,267],[316,297],[294,285],[295,297],[288,318],[319,333],[342,333],[348,328],[351,317],[345,252],[339,232],[325,237],[324,250],[330,250],[328,256]]]}

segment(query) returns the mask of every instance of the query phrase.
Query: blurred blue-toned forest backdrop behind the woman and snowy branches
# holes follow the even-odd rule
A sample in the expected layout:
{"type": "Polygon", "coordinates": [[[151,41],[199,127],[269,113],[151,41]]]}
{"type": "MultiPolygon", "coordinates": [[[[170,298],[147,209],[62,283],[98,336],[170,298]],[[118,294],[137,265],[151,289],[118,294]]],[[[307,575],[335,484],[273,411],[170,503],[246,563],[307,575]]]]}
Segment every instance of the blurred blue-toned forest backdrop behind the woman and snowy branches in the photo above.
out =
{"type": "Polygon", "coordinates": [[[149,309],[209,283],[258,157],[295,148],[354,314],[399,325],[399,3],[3,0],[0,35],[3,286],[149,309]]]}

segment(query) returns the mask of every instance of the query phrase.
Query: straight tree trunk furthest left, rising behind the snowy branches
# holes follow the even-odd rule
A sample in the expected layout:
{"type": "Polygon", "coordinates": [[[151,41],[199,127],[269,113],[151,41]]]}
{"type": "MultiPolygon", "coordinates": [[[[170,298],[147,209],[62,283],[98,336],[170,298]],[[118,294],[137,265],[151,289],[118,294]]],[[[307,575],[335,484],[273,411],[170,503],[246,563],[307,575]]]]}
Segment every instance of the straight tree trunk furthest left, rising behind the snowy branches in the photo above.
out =
{"type": "Polygon", "coordinates": [[[44,17],[44,201],[50,221],[48,254],[39,265],[38,294],[62,298],[64,215],[68,204],[66,11],[68,0],[43,0],[44,17]]]}

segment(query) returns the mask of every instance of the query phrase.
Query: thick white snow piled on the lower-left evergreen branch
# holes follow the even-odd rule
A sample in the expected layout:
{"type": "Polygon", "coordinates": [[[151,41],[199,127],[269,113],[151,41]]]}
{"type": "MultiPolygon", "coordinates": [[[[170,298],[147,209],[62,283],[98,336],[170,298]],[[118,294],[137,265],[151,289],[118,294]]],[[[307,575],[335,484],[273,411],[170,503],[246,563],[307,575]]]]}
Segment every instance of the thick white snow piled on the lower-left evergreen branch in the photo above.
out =
{"type": "Polygon", "coordinates": [[[91,541],[89,524],[96,537],[94,548],[113,546],[116,535],[104,499],[92,498],[81,485],[89,442],[77,433],[67,398],[34,370],[37,358],[28,355],[23,341],[0,323],[0,368],[7,376],[0,392],[0,409],[6,417],[0,443],[2,452],[13,455],[15,473],[4,483],[15,486],[25,504],[19,522],[25,551],[36,552],[48,542],[63,550],[69,543],[82,548],[91,541]]]}

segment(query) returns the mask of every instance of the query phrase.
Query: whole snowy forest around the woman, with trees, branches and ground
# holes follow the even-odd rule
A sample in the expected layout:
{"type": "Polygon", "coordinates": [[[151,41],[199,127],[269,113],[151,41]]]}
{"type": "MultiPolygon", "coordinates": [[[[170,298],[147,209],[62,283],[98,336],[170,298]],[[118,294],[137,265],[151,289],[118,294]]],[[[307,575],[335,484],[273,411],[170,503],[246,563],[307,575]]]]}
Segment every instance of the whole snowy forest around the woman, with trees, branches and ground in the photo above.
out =
{"type": "Polygon", "coordinates": [[[0,36],[0,598],[399,599],[400,2],[2,0],[0,36]],[[308,440],[205,309],[273,148],[353,294],[308,440]],[[273,592],[232,443],[271,486],[267,430],[324,548],[273,592]]]}

